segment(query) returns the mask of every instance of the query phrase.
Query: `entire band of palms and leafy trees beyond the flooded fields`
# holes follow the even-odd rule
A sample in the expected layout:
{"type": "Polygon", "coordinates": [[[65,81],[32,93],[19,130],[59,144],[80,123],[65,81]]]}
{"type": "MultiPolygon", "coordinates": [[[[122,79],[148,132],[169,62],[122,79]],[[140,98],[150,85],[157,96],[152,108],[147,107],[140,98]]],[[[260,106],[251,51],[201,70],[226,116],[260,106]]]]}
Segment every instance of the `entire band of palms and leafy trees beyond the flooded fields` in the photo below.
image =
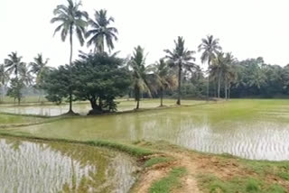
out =
{"type": "Polygon", "coordinates": [[[81,3],[67,1],[58,5],[51,19],[57,23],[54,34],[60,32],[61,40],[70,41],[67,65],[58,68],[47,66],[38,54],[32,62],[12,52],[0,65],[0,93],[14,97],[20,103],[24,87],[42,90],[48,100],[61,104],[63,100],[85,100],[91,105],[91,114],[116,111],[116,97],[135,97],[136,109],[143,97],[177,98],[230,98],[230,97],[286,97],[289,94],[289,65],[269,65],[262,58],[237,60],[232,53],[223,52],[219,39],[212,35],[200,41],[197,50],[200,61],[208,64],[203,71],[195,63],[196,51],[186,48],[180,36],[172,50],[165,49],[154,64],[146,63],[146,52],[136,46],[129,58],[121,59],[113,53],[117,41],[115,19],[107,10],[96,11],[91,19],[81,10],[81,3]],[[72,59],[73,40],[92,47],[92,51],[79,51],[79,58],[72,59]]]}

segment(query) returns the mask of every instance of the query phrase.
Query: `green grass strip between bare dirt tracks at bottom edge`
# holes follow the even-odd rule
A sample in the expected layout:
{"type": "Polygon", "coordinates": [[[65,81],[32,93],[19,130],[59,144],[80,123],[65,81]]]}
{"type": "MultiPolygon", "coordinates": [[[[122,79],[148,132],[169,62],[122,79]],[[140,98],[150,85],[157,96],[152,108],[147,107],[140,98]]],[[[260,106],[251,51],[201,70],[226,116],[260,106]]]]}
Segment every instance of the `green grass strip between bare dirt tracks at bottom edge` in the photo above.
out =
{"type": "Polygon", "coordinates": [[[178,188],[181,185],[180,178],[185,175],[185,168],[172,168],[168,176],[155,181],[149,189],[150,193],[169,193],[173,188],[178,188]]]}

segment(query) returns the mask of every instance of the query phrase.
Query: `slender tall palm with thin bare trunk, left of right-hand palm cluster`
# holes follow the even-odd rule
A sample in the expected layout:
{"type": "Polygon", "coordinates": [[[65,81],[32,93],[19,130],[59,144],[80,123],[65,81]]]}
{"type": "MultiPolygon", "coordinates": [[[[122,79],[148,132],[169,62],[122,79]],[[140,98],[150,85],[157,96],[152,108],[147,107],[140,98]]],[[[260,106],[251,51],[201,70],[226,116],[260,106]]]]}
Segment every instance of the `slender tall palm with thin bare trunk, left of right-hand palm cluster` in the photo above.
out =
{"type": "Polygon", "coordinates": [[[207,35],[206,38],[201,39],[199,45],[199,51],[202,51],[200,60],[202,63],[208,62],[208,84],[207,84],[207,100],[209,100],[209,91],[210,91],[210,64],[213,59],[216,58],[216,55],[221,51],[219,46],[219,39],[214,39],[213,35],[207,35]]]}

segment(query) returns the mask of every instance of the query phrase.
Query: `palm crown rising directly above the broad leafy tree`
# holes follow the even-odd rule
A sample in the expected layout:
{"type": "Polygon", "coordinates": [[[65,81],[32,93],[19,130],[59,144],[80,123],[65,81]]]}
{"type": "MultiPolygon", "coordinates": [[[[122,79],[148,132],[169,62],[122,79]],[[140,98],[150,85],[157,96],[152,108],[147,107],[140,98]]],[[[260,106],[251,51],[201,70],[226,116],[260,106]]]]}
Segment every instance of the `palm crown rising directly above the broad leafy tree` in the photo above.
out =
{"type": "Polygon", "coordinates": [[[86,37],[89,38],[88,46],[95,45],[95,52],[105,51],[105,41],[108,51],[115,48],[113,41],[117,41],[117,28],[110,27],[110,23],[114,23],[113,17],[107,18],[107,10],[101,9],[95,13],[95,21],[89,19],[89,25],[91,29],[86,33],[86,37]]]}

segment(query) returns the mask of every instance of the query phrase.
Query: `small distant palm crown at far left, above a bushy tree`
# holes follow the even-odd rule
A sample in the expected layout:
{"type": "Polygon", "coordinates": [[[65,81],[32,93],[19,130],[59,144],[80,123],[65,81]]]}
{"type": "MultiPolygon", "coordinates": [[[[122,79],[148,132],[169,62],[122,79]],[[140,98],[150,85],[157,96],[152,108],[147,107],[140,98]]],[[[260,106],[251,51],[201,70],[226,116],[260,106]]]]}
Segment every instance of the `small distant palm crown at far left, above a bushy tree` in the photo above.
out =
{"type": "Polygon", "coordinates": [[[17,56],[17,52],[12,52],[8,54],[8,59],[5,59],[5,68],[10,74],[14,74],[16,78],[19,75],[19,68],[24,62],[22,61],[22,56],[17,56]]]}

